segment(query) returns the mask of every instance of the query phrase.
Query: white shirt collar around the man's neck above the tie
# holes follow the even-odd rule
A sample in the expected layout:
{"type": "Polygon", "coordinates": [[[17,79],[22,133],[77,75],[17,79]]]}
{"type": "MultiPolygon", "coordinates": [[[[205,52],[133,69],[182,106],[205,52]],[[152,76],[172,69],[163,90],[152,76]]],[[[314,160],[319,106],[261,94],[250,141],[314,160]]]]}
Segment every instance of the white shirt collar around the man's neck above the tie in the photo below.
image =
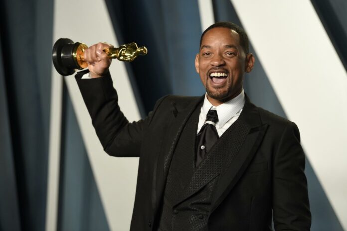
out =
{"type": "Polygon", "coordinates": [[[245,105],[245,93],[243,89],[238,96],[236,96],[235,98],[232,98],[231,100],[217,107],[213,106],[210,103],[210,101],[208,101],[207,93],[206,93],[201,110],[202,110],[204,118],[206,119],[207,112],[211,108],[216,109],[218,114],[217,126],[220,128],[220,127],[223,127],[223,125],[226,122],[228,122],[236,113],[238,113],[243,108],[244,105],[245,105]]]}

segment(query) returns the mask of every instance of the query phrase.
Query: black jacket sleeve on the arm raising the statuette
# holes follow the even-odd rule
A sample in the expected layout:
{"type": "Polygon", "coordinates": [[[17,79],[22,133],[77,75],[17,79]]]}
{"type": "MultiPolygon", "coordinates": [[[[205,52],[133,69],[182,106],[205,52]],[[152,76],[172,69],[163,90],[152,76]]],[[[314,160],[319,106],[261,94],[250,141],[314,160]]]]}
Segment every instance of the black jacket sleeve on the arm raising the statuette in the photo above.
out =
{"type": "Polygon", "coordinates": [[[111,156],[139,157],[146,128],[163,98],[145,119],[129,123],[118,105],[110,73],[100,78],[81,79],[86,73],[88,70],[80,71],[75,78],[104,150],[111,156]]]}

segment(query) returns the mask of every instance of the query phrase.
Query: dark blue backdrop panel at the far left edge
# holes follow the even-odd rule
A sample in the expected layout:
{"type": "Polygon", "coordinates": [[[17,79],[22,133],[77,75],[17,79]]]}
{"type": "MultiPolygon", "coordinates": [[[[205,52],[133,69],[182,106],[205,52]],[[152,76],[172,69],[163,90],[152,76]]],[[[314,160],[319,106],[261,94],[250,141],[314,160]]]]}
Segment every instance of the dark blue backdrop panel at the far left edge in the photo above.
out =
{"type": "MultiPolygon", "coordinates": [[[[11,227],[29,231],[44,230],[52,15],[52,0],[1,1],[1,75],[4,84],[1,88],[6,89],[1,92],[1,98],[7,101],[8,108],[1,110],[0,118],[2,122],[8,119],[6,124],[9,128],[7,134],[0,136],[0,140],[8,145],[5,155],[11,157],[0,162],[0,169],[10,168],[14,164],[16,178],[12,186],[16,185],[17,191],[12,192],[12,197],[17,199],[13,199],[12,212],[17,209],[17,200],[20,214],[20,217],[13,214],[10,220],[1,215],[3,230],[11,230],[11,227]],[[12,164],[8,162],[11,159],[12,164]]],[[[6,172],[0,178],[10,180],[12,176],[6,172]]],[[[11,203],[6,202],[7,199],[0,197],[1,207],[11,203]]]]}

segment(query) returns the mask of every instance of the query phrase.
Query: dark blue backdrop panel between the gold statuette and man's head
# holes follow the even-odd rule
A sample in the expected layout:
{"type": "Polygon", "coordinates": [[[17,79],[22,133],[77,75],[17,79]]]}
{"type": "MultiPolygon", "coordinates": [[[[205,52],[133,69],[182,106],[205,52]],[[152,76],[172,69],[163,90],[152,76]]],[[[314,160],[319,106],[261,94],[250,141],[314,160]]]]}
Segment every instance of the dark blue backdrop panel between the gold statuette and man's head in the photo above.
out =
{"type": "Polygon", "coordinates": [[[194,67],[201,34],[197,1],[105,1],[119,43],[148,48],[141,60],[126,64],[142,116],[163,95],[204,93],[194,67]]]}

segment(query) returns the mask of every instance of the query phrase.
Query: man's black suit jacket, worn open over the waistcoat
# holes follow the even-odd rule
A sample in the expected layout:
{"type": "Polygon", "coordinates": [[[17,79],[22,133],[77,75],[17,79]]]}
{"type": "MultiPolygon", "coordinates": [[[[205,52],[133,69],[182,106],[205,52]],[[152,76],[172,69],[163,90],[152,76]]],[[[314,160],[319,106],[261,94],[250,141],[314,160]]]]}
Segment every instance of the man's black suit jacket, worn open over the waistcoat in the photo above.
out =
{"type": "MultiPolygon", "coordinates": [[[[129,123],[117,104],[110,75],[84,80],[83,74],[76,80],[104,150],[117,157],[140,157],[131,230],[154,230],[175,145],[203,97],[165,96],[145,119],[129,123]]],[[[271,230],[272,216],[276,230],[310,230],[305,156],[297,126],[256,107],[248,97],[238,120],[239,126],[228,133],[232,135],[223,134],[218,141],[223,142],[219,152],[225,163],[212,198],[209,230],[271,230]]],[[[208,183],[194,177],[191,181],[200,188],[208,183]]],[[[177,201],[196,191],[183,192],[177,201]]]]}

